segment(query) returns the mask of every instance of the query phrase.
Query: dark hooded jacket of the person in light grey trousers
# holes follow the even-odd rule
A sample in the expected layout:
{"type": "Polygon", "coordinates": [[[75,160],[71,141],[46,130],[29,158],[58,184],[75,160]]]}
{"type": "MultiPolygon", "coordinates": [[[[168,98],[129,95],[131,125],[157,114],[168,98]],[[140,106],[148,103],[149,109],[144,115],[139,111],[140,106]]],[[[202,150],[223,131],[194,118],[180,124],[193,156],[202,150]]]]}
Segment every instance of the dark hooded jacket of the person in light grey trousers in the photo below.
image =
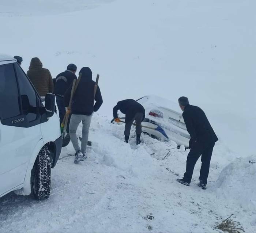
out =
{"type": "MultiPolygon", "coordinates": [[[[92,72],[90,68],[83,67],[79,73],[82,73],[80,82],[76,89],[72,103],[72,114],[80,114],[90,116],[93,112],[97,112],[103,103],[101,91],[99,86],[96,91],[94,105],[94,85],[95,82],[92,80],[92,72]]],[[[72,84],[64,95],[65,107],[68,107],[69,99],[71,95],[72,84]]]]}

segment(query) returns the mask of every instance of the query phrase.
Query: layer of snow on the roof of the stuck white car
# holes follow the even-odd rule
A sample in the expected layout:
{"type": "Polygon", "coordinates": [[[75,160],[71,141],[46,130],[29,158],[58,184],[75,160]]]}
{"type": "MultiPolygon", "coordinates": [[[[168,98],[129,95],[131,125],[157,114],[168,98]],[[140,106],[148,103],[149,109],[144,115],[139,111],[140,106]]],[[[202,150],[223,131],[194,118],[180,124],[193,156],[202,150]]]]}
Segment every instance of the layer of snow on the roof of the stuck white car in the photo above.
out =
{"type": "Polygon", "coordinates": [[[138,102],[140,104],[142,104],[143,106],[147,105],[147,106],[155,106],[155,107],[163,107],[163,108],[168,108],[170,110],[174,110],[176,112],[181,113],[181,109],[180,106],[178,105],[178,100],[177,103],[168,100],[168,99],[164,99],[162,97],[159,96],[155,96],[155,95],[147,95],[144,96],[142,98],[140,98],[138,100],[138,102]]]}

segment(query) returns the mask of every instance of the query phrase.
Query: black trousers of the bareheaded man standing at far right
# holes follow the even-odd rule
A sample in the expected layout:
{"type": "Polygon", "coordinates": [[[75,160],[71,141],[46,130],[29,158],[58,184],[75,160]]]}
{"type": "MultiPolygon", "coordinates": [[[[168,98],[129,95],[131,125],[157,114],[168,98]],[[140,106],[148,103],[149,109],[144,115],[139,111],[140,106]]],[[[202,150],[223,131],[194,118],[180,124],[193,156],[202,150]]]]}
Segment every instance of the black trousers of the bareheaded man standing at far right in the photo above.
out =
{"type": "Polygon", "coordinates": [[[187,157],[187,167],[186,172],[184,173],[184,181],[190,183],[193,175],[193,171],[196,165],[197,160],[201,157],[202,165],[200,170],[199,180],[202,180],[207,184],[207,178],[209,175],[210,162],[212,156],[212,150],[214,148],[214,142],[208,142],[206,144],[199,144],[197,142],[192,145],[190,152],[187,157]]]}

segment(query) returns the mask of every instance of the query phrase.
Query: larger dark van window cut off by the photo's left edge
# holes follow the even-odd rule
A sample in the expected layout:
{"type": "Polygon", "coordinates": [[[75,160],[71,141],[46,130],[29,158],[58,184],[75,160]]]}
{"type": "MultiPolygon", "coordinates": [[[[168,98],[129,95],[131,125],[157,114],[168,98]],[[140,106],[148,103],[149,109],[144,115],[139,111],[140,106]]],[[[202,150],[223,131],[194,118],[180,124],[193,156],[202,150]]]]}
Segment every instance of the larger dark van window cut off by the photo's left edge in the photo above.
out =
{"type": "Polygon", "coordinates": [[[0,65],[0,118],[21,114],[19,92],[13,64],[0,65]]]}

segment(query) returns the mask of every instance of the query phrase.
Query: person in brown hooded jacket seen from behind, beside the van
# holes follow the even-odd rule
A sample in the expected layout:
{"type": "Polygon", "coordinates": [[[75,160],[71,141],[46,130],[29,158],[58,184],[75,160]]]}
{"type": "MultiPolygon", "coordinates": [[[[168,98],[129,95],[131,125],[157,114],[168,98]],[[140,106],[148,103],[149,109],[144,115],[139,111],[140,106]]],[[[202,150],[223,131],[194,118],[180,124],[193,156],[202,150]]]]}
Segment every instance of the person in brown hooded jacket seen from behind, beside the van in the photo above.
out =
{"type": "Polygon", "coordinates": [[[38,57],[33,57],[30,61],[27,76],[33,83],[35,89],[40,96],[45,96],[47,93],[53,93],[53,80],[48,69],[42,68],[43,64],[38,57]]]}

